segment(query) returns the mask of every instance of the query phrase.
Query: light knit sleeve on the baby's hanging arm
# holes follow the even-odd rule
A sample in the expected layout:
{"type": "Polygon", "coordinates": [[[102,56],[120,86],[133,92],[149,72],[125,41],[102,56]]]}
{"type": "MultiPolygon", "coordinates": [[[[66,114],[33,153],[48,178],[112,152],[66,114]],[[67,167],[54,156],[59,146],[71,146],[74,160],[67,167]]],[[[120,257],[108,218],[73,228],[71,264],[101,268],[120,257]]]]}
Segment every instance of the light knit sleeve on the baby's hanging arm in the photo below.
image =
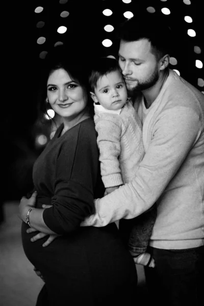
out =
{"type": "Polygon", "coordinates": [[[108,188],[122,185],[118,160],[121,137],[119,118],[117,120],[114,117],[95,120],[95,129],[98,133],[100,171],[104,186],[108,188]]]}

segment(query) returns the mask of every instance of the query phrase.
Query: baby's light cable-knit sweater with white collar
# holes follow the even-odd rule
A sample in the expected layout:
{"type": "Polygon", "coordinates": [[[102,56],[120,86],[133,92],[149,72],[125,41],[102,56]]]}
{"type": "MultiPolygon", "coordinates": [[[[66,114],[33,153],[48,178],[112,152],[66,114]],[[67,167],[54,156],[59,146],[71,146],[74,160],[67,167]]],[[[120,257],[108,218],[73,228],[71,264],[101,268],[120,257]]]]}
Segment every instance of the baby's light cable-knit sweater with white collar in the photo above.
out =
{"type": "Polygon", "coordinates": [[[94,122],[104,186],[133,180],[144,156],[142,124],[130,101],[117,111],[94,104],[94,122]]]}

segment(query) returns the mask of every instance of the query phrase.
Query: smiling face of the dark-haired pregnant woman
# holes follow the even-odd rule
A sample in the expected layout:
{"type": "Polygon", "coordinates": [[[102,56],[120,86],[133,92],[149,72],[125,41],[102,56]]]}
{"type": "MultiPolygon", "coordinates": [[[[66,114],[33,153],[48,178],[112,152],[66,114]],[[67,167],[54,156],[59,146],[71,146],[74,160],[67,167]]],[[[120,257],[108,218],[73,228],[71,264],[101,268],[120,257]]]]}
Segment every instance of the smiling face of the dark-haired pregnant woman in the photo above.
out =
{"type": "Polygon", "coordinates": [[[47,98],[57,114],[70,120],[77,117],[87,106],[83,87],[72,81],[62,68],[50,73],[47,80],[47,98]]]}

